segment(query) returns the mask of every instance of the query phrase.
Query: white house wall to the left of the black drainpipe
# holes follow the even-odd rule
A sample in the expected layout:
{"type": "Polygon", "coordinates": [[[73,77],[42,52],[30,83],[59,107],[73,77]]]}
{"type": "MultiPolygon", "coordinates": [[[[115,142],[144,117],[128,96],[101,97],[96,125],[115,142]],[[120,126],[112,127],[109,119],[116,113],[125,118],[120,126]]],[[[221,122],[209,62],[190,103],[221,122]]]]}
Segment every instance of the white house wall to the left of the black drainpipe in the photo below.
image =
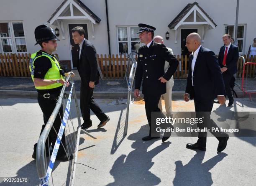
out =
{"type": "MultiPolygon", "coordinates": [[[[0,21],[22,20],[23,29],[26,37],[27,51],[33,53],[40,49],[36,43],[34,30],[36,26],[45,24],[61,5],[63,0],[1,0],[0,1],[0,21]]],[[[108,35],[107,35],[107,19],[105,0],[82,0],[82,2],[92,10],[100,19],[101,22],[94,26],[95,39],[92,39],[92,28],[89,21],[64,21],[65,40],[62,40],[62,33],[60,31],[60,40],[58,41],[58,48],[56,53],[59,54],[60,60],[70,60],[71,51],[69,43],[69,33],[67,23],[87,23],[89,40],[95,45],[98,54],[108,54],[108,35]]],[[[49,23],[48,23],[49,25],[49,23]]],[[[54,25],[49,25],[53,29],[54,25]]],[[[58,27],[58,26],[57,26],[58,27]]],[[[59,28],[59,27],[58,27],[59,28]]],[[[60,28],[59,28],[60,30],[60,28]]]]}

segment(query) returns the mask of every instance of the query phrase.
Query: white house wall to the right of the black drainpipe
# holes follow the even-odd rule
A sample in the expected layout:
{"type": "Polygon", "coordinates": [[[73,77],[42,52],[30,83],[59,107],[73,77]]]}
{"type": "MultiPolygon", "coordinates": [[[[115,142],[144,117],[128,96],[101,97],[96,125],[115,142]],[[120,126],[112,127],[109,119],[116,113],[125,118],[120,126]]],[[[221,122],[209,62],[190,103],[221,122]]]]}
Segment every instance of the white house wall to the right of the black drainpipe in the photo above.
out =
{"type": "MultiPolygon", "coordinates": [[[[220,46],[223,45],[221,36],[224,34],[224,24],[235,24],[236,0],[108,0],[111,52],[117,54],[118,25],[138,25],[146,23],[156,27],[155,35],[164,37],[166,46],[173,48],[174,54],[180,54],[181,36],[178,34],[178,43],[175,44],[175,33],[167,25],[183,10],[188,3],[199,3],[202,9],[218,25],[215,29],[205,34],[203,46],[212,49],[218,54],[220,46]],[[170,33],[169,40],[165,39],[165,33],[170,33]]],[[[244,41],[247,53],[249,45],[256,37],[256,1],[240,1],[238,24],[247,24],[246,40],[244,41]]],[[[189,28],[193,28],[190,26],[189,28]]],[[[199,30],[201,34],[201,31],[199,30]]]]}

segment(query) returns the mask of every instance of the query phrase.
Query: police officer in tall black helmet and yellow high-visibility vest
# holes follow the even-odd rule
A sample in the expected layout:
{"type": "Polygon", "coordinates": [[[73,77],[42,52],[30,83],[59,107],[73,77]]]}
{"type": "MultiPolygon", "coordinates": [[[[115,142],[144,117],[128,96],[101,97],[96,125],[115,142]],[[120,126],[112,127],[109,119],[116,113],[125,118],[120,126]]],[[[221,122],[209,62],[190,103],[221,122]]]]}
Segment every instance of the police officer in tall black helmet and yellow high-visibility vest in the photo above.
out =
{"type": "MultiPolygon", "coordinates": [[[[58,46],[56,40],[59,41],[52,28],[49,28],[46,25],[39,25],[35,29],[35,38],[35,45],[39,44],[41,46],[41,50],[31,55],[29,69],[35,88],[38,92],[38,104],[44,114],[44,125],[42,125],[42,129],[40,132],[41,135],[47,121],[49,120],[49,117],[51,116],[51,113],[56,106],[61,88],[65,83],[64,76],[67,76],[69,73],[73,72],[64,73],[64,71],[60,67],[58,59],[54,54],[52,54],[52,52],[56,51],[56,47],[58,46]]],[[[69,86],[68,82],[66,86],[69,86]]],[[[56,132],[59,132],[59,128],[61,126],[62,117],[63,108],[61,105],[61,108],[59,109],[59,114],[56,116],[56,119],[48,136],[49,145],[51,145],[52,148],[54,147],[57,138],[56,132]],[[54,131],[54,129],[56,130],[56,132],[54,131]]],[[[65,147],[65,133],[63,133],[61,142],[65,147]]],[[[36,158],[36,146],[37,143],[34,145],[34,152],[32,158],[36,158]]],[[[47,140],[45,146],[46,156],[49,156],[47,140]]],[[[68,161],[69,159],[73,158],[73,155],[66,154],[64,147],[60,144],[56,159],[59,159],[61,161],[68,161]]]]}

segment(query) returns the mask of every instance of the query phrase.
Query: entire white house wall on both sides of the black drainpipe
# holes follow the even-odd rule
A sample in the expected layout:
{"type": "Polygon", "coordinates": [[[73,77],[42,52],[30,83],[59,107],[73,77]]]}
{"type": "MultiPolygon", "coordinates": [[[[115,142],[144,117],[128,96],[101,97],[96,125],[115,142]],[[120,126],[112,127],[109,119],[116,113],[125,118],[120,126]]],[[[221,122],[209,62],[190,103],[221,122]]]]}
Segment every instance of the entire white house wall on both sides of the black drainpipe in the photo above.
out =
{"type": "MultiPolygon", "coordinates": [[[[166,46],[173,49],[174,54],[180,54],[180,31],[175,44],[174,31],[167,25],[182,11],[188,3],[195,0],[108,0],[109,28],[111,54],[118,54],[116,26],[131,26],[146,23],[156,27],[155,35],[164,37],[166,46]],[[169,40],[165,33],[170,33],[169,40]]],[[[26,37],[28,53],[39,49],[34,46],[34,29],[49,20],[63,0],[1,0],[0,21],[22,20],[26,37]]],[[[92,30],[89,21],[68,21],[68,23],[88,23],[89,40],[95,45],[98,54],[108,54],[108,34],[105,0],[82,0],[100,19],[95,24],[95,39],[92,39],[92,30]]],[[[236,20],[236,0],[197,0],[197,3],[209,14],[210,18],[218,25],[215,29],[207,31],[203,46],[212,49],[216,54],[223,45],[221,36],[224,34],[224,24],[234,24],[236,20]]],[[[240,1],[238,24],[246,24],[244,51],[247,53],[249,45],[256,37],[256,1],[240,1]]],[[[52,25],[51,25],[52,26],[52,25]]],[[[54,29],[56,26],[52,26],[54,29]]],[[[195,28],[187,26],[187,28],[195,28]]],[[[60,29],[60,28],[59,28],[60,29]]],[[[65,40],[62,40],[61,31],[57,53],[60,60],[70,60],[70,44],[67,22],[64,21],[65,40]]],[[[199,33],[202,27],[200,26],[199,33]]]]}

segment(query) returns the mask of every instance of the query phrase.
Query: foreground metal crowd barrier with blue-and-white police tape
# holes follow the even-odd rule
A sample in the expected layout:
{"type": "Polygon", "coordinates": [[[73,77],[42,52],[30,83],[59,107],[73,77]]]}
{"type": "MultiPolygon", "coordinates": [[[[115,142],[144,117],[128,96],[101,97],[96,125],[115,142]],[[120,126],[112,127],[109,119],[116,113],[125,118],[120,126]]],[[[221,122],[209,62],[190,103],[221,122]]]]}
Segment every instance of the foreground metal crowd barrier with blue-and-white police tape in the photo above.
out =
{"type": "MultiPolygon", "coordinates": [[[[37,143],[36,168],[37,168],[40,184],[44,185],[44,186],[49,186],[50,176],[51,176],[52,185],[54,185],[52,170],[53,170],[54,162],[55,162],[56,155],[57,155],[57,152],[59,149],[59,145],[63,145],[66,154],[72,153],[74,156],[73,160],[69,159],[69,167],[68,167],[68,176],[69,177],[67,176],[67,180],[64,181],[64,182],[69,181],[69,185],[71,185],[71,186],[74,185],[76,164],[77,164],[77,153],[78,153],[80,132],[82,129],[81,129],[79,105],[77,102],[77,96],[76,96],[76,91],[75,91],[73,82],[70,82],[71,90],[70,90],[68,99],[64,93],[64,91],[66,89],[67,81],[69,80],[69,78],[71,76],[72,76],[72,74],[69,74],[69,76],[66,78],[66,81],[61,89],[61,93],[57,100],[56,107],[54,108],[54,111],[52,112],[51,117],[49,118],[46,126],[44,127],[44,130],[41,133],[40,138],[38,139],[38,143],[37,143]],[[71,101],[72,101],[71,98],[74,98],[74,102],[75,102],[75,107],[76,107],[76,112],[77,112],[77,115],[75,117],[77,117],[77,120],[78,120],[78,127],[74,127],[74,122],[72,120],[72,118],[73,118],[72,113],[70,112],[71,101]],[[64,100],[67,100],[66,107],[65,107],[65,102],[63,102],[64,100]],[[53,127],[53,123],[54,123],[54,120],[56,119],[56,116],[59,114],[61,104],[63,104],[63,106],[64,106],[63,108],[64,108],[65,112],[64,112],[64,117],[61,121],[61,127],[60,127],[59,131],[56,131],[53,127]],[[69,115],[70,115],[70,118],[69,118],[69,115]],[[72,125],[71,127],[69,126],[70,122],[72,125]],[[46,140],[48,138],[49,132],[52,127],[58,137],[56,139],[53,152],[51,155],[49,155],[49,165],[47,166],[45,144],[46,144],[46,140]],[[71,128],[71,130],[73,130],[73,132],[71,132],[70,128],[71,128]],[[61,138],[62,138],[62,134],[63,134],[64,130],[65,130],[66,136],[63,136],[63,137],[66,138],[67,148],[61,142],[61,138]],[[75,140],[73,141],[74,138],[76,138],[76,141],[75,140]]],[[[52,143],[54,143],[54,141],[52,143]]],[[[48,148],[50,149],[49,141],[48,141],[48,148]]],[[[50,154],[50,152],[49,152],[49,154],[50,154]]],[[[60,184],[58,184],[58,185],[60,185],[60,184]]]]}

